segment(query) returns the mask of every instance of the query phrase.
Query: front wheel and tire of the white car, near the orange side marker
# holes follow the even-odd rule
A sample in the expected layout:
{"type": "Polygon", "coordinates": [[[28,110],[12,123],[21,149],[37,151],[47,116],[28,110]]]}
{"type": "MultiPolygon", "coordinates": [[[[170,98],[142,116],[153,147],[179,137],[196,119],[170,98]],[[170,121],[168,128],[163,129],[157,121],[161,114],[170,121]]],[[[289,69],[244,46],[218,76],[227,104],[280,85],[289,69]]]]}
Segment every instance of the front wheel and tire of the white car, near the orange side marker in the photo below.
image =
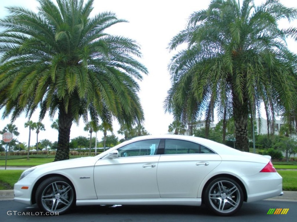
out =
{"type": "Polygon", "coordinates": [[[36,190],[36,203],[44,212],[65,213],[74,206],[74,188],[63,177],[47,178],[36,190]]]}

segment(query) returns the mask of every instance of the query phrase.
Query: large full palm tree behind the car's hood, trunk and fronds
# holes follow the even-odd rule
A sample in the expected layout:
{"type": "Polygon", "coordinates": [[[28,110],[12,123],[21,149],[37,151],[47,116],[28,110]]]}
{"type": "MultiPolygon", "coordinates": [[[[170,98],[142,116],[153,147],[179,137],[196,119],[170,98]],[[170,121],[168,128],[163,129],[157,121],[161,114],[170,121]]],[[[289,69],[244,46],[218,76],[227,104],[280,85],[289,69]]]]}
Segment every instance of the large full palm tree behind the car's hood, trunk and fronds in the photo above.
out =
{"type": "Polygon", "coordinates": [[[112,12],[90,16],[94,0],[38,2],[37,12],[8,7],[0,19],[0,108],[12,120],[22,112],[30,118],[38,106],[40,121],[58,112],[58,161],[69,159],[70,129],[80,117],[141,122],[136,80],[148,71],[135,59],[141,53],[134,40],[105,33],[125,20],[112,12]]]}

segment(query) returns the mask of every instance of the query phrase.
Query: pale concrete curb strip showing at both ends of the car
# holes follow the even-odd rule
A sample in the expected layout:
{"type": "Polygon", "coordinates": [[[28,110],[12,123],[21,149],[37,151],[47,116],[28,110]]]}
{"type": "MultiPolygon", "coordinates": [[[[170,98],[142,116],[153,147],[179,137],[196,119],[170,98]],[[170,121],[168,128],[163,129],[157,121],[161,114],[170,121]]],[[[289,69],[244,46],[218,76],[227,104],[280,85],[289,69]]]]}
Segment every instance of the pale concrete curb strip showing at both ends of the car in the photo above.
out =
{"type": "MultiPolygon", "coordinates": [[[[0,201],[13,200],[13,196],[13,190],[0,190],[0,201]]],[[[269,198],[266,200],[297,202],[297,191],[284,191],[284,195],[269,198]]]]}

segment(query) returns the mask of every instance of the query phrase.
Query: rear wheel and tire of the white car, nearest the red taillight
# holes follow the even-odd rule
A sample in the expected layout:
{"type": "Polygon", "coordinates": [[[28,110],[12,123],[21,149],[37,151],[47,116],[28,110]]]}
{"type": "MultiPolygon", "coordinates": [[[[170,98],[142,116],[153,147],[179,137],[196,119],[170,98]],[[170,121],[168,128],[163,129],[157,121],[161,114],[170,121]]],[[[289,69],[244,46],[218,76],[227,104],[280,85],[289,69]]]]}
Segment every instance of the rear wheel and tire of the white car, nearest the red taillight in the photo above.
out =
{"type": "Polygon", "coordinates": [[[241,186],[228,177],[214,179],[204,193],[206,206],[219,216],[235,214],[241,208],[243,198],[241,186]]]}

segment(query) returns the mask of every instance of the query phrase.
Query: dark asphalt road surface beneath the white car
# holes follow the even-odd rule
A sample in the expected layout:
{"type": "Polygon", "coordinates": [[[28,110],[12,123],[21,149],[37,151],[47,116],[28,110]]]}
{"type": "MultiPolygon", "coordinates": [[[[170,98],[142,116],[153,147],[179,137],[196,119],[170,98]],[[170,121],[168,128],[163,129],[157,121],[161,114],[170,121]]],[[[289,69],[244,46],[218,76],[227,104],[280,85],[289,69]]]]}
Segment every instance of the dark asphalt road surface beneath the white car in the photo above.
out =
{"type": "Polygon", "coordinates": [[[59,216],[41,216],[37,215],[37,207],[28,207],[21,203],[10,201],[0,201],[0,220],[5,222],[23,222],[24,220],[34,222],[46,221],[102,221],[102,222],[208,222],[208,221],[267,221],[267,222],[293,222],[297,218],[297,202],[285,201],[258,201],[254,203],[244,203],[241,210],[234,216],[224,218],[212,215],[205,206],[187,207],[187,206],[84,206],[71,210],[66,215],[59,216]],[[286,215],[267,215],[270,208],[289,208],[286,215]],[[14,215],[13,210],[17,212],[14,215]],[[7,215],[12,214],[12,215],[7,215]],[[17,214],[30,215],[17,215],[17,214]]]}

